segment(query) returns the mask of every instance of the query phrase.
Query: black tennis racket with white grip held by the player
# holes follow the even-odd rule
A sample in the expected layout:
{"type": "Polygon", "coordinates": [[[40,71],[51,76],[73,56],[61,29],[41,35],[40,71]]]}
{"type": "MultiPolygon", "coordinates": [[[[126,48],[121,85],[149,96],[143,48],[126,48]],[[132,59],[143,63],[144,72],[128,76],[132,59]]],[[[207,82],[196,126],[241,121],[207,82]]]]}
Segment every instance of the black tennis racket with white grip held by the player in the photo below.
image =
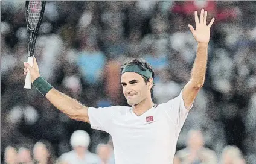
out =
{"type": "MultiPolygon", "coordinates": [[[[46,1],[26,1],[26,22],[28,29],[28,60],[30,66],[33,66],[34,62],[34,46],[36,45],[36,37],[43,19],[43,13],[45,11],[46,1]]],[[[28,72],[25,78],[26,89],[31,89],[31,77],[28,72]]]]}

